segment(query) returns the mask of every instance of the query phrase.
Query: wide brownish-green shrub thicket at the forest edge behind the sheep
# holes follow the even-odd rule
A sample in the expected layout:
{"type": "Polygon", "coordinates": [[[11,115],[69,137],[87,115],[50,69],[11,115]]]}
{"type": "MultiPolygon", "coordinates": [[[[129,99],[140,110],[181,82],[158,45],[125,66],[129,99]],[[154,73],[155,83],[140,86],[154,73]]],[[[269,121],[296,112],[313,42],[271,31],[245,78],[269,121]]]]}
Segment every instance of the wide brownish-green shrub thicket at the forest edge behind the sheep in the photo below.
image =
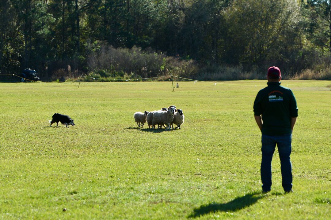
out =
{"type": "MultiPolygon", "coordinates": [[[[104,42],[88,57],[88,67],[92,72],[104,77],[122,79],[152,78],[173,74],[181,77],[194,76],[198,66],[193,60],[180,60],[156,53],[150,48],[114,48],[104,42]]],[[[160,79],[164,80],[164,79],[160,79]]]]}

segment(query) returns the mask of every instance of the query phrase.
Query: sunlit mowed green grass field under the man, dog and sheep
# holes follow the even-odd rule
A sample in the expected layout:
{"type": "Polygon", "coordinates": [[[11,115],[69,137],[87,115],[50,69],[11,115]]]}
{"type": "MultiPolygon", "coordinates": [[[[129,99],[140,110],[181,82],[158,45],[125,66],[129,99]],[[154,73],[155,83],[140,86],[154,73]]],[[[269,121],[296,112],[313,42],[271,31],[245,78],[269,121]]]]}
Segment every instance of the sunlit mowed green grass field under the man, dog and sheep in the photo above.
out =
{"type": "MultiPolygon", "coordinates": [[[[253,116],[265,80],[1,83],[0,219],[329,219],[331,81],[283,81],[298,102],[292,194],[278,151],[261,193],[253,116]],[[181,130],[135,111],[182,109],[181,130]],[[54,113],[75,126],[49,127],[54,113]],[[63,211],[66,209],[66,211],[63,211]]],[[[54,125],[53,125],[54,126],[54,125]]]]}

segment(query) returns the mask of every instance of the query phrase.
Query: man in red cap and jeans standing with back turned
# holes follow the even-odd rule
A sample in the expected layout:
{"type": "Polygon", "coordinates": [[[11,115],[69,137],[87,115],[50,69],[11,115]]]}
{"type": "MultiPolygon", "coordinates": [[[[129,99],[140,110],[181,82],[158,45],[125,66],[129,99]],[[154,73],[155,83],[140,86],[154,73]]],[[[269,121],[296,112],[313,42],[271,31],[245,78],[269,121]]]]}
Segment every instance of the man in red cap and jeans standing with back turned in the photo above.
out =
{"type": "Polygon", "coordinates": [[[267,78],[268,86],[258,92],[254,101],[254,117],[262,132],[262,191],[271,190],[271,160],[277,143],[282,186],[285,192],[293,192],[290,154],[298,116],[297,102],[292,90],[280,85],[282,77],[278,67],[270,67],[267,78]]]}

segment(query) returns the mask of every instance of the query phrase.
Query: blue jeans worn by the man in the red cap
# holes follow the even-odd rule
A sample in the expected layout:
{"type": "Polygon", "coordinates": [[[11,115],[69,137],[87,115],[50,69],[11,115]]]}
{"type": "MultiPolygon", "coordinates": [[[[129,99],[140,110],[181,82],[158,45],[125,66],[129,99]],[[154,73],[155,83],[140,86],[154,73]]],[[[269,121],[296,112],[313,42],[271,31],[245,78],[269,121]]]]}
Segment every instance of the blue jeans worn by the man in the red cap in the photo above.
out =
{"type": "Polygon", "coordinates": [[[280,158],[282,186],[285,191],[292,189],[291,142],[292,135],[269,136],[262,134],[261,180],[263,191],[271,190],[271,160],[276,143],[280,158]]]}

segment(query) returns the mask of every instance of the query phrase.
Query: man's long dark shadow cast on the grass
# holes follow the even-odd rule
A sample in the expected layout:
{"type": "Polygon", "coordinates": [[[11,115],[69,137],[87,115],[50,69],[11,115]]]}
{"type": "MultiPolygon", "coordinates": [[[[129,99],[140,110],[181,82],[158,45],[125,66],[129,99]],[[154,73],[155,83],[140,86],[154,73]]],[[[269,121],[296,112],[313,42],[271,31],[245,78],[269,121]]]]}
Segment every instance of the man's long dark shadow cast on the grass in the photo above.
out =
{"type": "Polygon", "coordinates": [[[201,205],[199,208],[195,208],[193,213],[189,216],[190,218],[200,217],[211,212],[223,211],[223,212],[234,212],[240,209],[246,208],[253,205],[259,199],[265,195],[261,193],[250,193],[245,196],[240,196],[227,203],[211,203],[207,205],[201,205]]]}

